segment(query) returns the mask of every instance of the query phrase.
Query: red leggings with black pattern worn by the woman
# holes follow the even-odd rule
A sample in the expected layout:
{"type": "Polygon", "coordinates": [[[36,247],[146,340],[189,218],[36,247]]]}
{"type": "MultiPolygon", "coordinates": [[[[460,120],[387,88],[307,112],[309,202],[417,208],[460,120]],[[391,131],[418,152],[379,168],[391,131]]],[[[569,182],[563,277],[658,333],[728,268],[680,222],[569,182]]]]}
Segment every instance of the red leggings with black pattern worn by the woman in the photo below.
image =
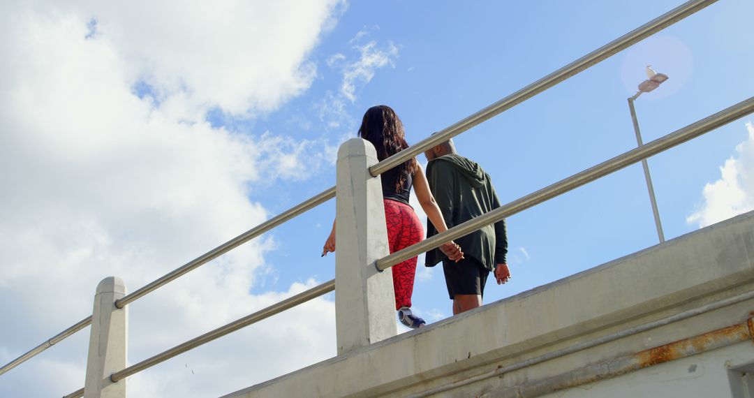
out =
{"type": "MultiPolygon", "coordinates": [[[[385,199],[385,222],[388,224],[388,244],[390,253],[405,249],[424,238],[418,216],[407,204],[385,199]]],[[[393,289],[395,309],[411,307],[411,294],[414,291],[414,275],[417,258],[408,259],[393,266],[393,289]]]]}

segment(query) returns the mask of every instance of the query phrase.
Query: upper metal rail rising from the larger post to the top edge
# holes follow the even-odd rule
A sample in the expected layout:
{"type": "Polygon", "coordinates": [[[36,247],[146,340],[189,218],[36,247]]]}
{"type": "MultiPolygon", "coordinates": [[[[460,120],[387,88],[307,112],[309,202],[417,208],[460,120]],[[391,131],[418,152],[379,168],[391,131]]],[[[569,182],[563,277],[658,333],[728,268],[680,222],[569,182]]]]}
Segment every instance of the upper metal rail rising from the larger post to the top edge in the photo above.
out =
{"type": "Polygon", "coordinates": [[[387,158],[379,162],[378,164],[369,167],[369,173],[371,173],[372,176],[379,176],[380,174],[391,170],[393,167],[402,164],[410,158],[414,158],[415,156],[421,154],[421,152],[425,152],[427,149],[432,148],[435,145],[446,142],[448,139],[451,139],[452,137],[463,133],[471,127],[474,127],[477,124],[480,124],[483,121],[486,121],[487,119],[492,118],[493,116],[498,115],[501,112],[504,112],[507,109],[513,108],[513,106],[516,106],[519,103],[523,103],[523,101],[525,101],[526,99],[529,99],[532,96],[535,96],[538,93],[541,93],[542,91],[553,87],[555,84],[558,84],[561,81],[564,81],[567,78],[576,75],[578,72],[581,72],[584,69],[589,68],[590,66],[596,65],[602,60],[605,60],[615,53],[618,53],[618,51],[622,51],[627,47],[630,47],[631,45],[642,41],[644,38],[647,38],[648,36],[653,35],[654,33],[657,33],[670,25],[673,25],[673,23],[676,23],[679,20],[682,20],[685,17],[696,13],[697,11],[700,11],[707,6],[712,5],[716,1],[717,0],[694,0],[691,2],[685,2],[684,4],[679,5],[673,10],[662,14],[660,17],[657,17],[654,20],[651,20],[650,22],[645,23],[644,25],[639,26],[636,29],[633,29],[631,32],[628,32],[625,35],[622,35],[620,38],[617,38],[609,42],[608,44],[599,47],[598,49],[592,51],[584,57],[581,57],[578,60],[575,60],[574,62],[569,63],[568,65],[556,70],[555,72],[550,73],[550,75],[547,75],[544,78],[541,78],[538,81],[535,81],[534,83],[523,87],[521,90],[518,90],[515,93],[506,96],[498,102],[487,106],[485,109],[482,109],[474,115],[470,115],[469,117],[464,118],[463,120],[458,121],[455,124],[452,124],[450,127],[446,127],[445,129],[440,130],[438,133],[433,134],[428,138],[422,139],[409,148],[403,149],[403,151],[398,152],[390,158],[387,158]]]}

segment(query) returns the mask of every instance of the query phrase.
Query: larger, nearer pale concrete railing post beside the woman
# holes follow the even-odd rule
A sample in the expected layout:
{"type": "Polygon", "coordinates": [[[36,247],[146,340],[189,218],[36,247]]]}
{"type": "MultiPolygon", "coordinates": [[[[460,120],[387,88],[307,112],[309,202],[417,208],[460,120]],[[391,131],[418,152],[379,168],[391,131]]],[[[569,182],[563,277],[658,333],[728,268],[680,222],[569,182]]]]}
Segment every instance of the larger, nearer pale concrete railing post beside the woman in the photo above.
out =
{"type": "Polygon", "coordinates": [[[374,146],[349,139],[338,150],[336,197],[336,330],[338,354],[397,334],[393,271],[377,271],[388,256],[388,230],[374,146]]]}

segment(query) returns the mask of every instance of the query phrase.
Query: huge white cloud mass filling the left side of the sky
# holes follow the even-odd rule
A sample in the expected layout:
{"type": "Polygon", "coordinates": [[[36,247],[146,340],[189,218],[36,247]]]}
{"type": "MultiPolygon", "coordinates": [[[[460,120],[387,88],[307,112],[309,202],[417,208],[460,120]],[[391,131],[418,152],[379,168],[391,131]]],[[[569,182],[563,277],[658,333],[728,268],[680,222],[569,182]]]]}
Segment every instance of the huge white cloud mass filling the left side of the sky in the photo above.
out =
{"type": "MultiPolygon", "coordinates": [[[[307,55],[337,7],[6,5],[0,317],[13,327],[0,332],[0,362],[90,314],[103,277],[117,275],[136,289],[262,222],[268,213],[248,199],[264,183],[262,168],[264,179],[308,175],[321,160],[302,154],[326,143],[231,133],[205,118],[214,108],[245,117],[270,112],[305,90],[315,70],[307,55]],[[139,81],[149,87],[141,99],[133,93],[139,81]]],[[[270,247],[265,239],[246,243],[130,305],[130,361],[317,283],[250,295],[270,247]]],[[[129,391],[228,393],[332,356],[334,329],[333,304],[320,298],[133,376],[129,391]]],[[[0,376],[0,396],[81,387],[87,338],[79,332],[0,376]]]]}

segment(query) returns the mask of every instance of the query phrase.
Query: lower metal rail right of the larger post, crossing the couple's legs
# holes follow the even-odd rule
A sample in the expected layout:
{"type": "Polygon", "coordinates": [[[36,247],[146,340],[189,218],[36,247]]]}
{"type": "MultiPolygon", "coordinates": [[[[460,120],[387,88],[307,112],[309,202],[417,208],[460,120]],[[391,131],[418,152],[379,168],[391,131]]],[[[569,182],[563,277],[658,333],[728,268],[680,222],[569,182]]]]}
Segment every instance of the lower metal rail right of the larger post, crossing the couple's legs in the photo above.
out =
{"type": "Polygon", "coordinates": [[[700,121],[689,124],[688,126],[683,127],[680,130],[676,130],[675,132],[670,133],[667,136],[655,139],[652,142],[648,142],[628,152],[624,152],[623,154],[618,155],[615,158],[611,158],[608,161],[604,161],[601,164],[590,167],[589,169],[584,170],[581,173],[574,174],[573,176],[562,179],[561,181],[556,182],[553,185],[547,186],[540,189],[539,191],[535,191],[532,194],[528,194],[525,197],[521,197],[516,201],[512,201],[509,204],[498,207],[497,209],[492,210],[489,213],[484,214],[483,216],[479,216],[474,219],[470,219],[469,221],[462,224],[455,225],[455,227],[450,228],[449,230],[441,234],[437,234],[434,237],[422,240],[421,242],[416,243],[413,246],[406,247],[406,249],[399,250],[389,256],[385,256],[382,259],[377,260],[377,262],[375,262],[375,266],[380,271],[383,271],[387,268],[392,267],[393,265],[418,256],[418,254],[420,253],[425,253],[428,250],[433,250],[449,240],[457,239],[458,237],[462,237],[464,235],[470,234],[471,232],[477,231],[480,228],[485,227],[486,225],[494,224],[495,222],[498,222],[501,219],[506,218],[507,216],[512,216],[513,214],[519,213],[522,210],[529,209],[529,207],[533,207],[536,204],[540,204],[544,201],[552,199],[553,197],[565,194],[566,192],[571,191],[574,188],[578,188],[581,185],[585,185],[588,182],[599,179],[600,177],[607,176],[610,173],[621,170],[622,168],[630,166],[631,164],[637,163],[642,159],[648,158],[652,155],[657,155],[658,153],[663,152],[669,148],[673,148],[673,146],[682,144],[689,139],[693,139],[724,124],[728,124],[738,118],[743,118],[743,116],[746,116],[752,112],[754,112],[754,96],[727,109],[723,109],[722,111],[717,112],[714,115],[710,115],[700,121]]]}

